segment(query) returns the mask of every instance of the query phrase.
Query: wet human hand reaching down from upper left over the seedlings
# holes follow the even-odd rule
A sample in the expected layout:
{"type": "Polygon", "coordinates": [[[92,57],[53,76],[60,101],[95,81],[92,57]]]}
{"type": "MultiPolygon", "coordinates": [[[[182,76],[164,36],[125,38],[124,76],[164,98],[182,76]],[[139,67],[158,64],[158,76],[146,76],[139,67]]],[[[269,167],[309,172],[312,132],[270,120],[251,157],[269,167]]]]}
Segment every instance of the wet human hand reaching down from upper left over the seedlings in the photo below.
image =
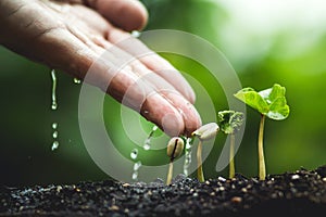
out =
{"type": "Polygon", "coordinates": [[[74,77],[90,73],[87,82],[167,135],[189,136],[201,125],[191,87],[127,33],[146,23],[146,9],[136,0],[0,1],[1,44],[74,77]],[[135,60],[140,52],[147,55],[135,60]],[[126,60],[133,61],[121,67],[126,60]]]}

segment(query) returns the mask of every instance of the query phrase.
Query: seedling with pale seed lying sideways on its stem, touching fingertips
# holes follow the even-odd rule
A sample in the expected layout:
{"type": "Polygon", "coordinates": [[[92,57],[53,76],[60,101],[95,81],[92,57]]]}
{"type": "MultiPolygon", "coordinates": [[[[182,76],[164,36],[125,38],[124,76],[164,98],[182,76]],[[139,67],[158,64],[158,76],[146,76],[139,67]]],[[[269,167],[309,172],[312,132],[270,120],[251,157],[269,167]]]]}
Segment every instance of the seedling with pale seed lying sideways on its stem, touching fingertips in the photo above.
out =
{"type": "Polygon", "coordinates": [[[198,164],[198,169],[197,169],[197,177],[200,182],[204,182],[204,175],[202,170],[202,142],[204,140],[210,140],[216,136],[218,132],[218,125],[216,123],[210,123],[206,125],[201,126],[197,130],[195,130],[191,136],[192,137],[198,137],[199,143],[198,143],[198,149],[197,149],[197,164],[198,164]]]}

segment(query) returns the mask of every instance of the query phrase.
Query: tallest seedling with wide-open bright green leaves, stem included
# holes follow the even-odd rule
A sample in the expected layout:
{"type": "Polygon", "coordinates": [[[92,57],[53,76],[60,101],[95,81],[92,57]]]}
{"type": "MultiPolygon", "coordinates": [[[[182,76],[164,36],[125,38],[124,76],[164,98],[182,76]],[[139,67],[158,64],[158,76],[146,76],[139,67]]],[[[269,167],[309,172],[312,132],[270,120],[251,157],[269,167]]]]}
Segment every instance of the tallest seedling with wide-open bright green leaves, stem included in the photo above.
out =
{"type": "Polygon", "coordinates": [[[289,105],[285,97],[286,89],[278,84],[272,88],[256,92],[252,88],[243,88],[238,91],[235,97],[248,104],[249,106],[261,113],[261,122],[259,129],[259,177],[260,180],[265,180],[266,168],[263,151],[263,137],[265,117],[275,120],[283,120],[290,113],[289,105]]]}

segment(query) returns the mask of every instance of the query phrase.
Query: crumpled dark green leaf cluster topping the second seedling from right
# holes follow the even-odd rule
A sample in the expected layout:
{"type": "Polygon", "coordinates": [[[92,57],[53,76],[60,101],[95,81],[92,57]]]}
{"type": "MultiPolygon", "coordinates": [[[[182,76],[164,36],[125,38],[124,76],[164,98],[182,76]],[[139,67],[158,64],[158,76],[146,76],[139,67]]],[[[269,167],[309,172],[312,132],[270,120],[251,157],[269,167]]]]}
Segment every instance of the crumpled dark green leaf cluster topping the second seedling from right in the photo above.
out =
{"type": "Polygon", "coordinates": [[[217,119],[224,133],[236,133],[243,124],[244,115],[241,112],[222,111],[218,112],[217,119]]]}

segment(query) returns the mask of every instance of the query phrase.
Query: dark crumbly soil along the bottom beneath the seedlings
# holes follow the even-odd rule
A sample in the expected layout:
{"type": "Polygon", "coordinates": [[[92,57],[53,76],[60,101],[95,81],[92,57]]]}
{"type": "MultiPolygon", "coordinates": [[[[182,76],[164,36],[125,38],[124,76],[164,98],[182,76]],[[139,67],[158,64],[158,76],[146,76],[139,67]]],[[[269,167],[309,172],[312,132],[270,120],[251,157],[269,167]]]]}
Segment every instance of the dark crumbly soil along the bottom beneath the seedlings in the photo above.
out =
{"type": "Polygon", "coordinates": [[[183,175],[171,186],[112,180],[72,186],[0,188],[0,216],[325,216],[326,166],[237,175],[204,183],[183,175]]]}

